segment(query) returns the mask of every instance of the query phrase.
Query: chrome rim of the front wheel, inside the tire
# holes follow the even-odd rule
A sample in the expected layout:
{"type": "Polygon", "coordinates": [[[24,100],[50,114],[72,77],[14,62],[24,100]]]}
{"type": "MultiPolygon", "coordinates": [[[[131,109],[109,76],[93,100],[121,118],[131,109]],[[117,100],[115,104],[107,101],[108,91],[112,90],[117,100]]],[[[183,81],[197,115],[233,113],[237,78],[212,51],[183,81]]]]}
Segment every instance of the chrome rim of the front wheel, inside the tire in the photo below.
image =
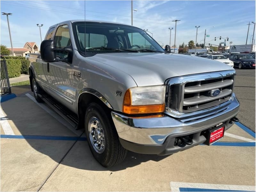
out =
{"type": "Polygon", "coordinates": [[[88,123],[88,133],[92,147],[97,153],[103,153],[105,149],[105,135],[100,120],[91,117],[88,123]]]}

